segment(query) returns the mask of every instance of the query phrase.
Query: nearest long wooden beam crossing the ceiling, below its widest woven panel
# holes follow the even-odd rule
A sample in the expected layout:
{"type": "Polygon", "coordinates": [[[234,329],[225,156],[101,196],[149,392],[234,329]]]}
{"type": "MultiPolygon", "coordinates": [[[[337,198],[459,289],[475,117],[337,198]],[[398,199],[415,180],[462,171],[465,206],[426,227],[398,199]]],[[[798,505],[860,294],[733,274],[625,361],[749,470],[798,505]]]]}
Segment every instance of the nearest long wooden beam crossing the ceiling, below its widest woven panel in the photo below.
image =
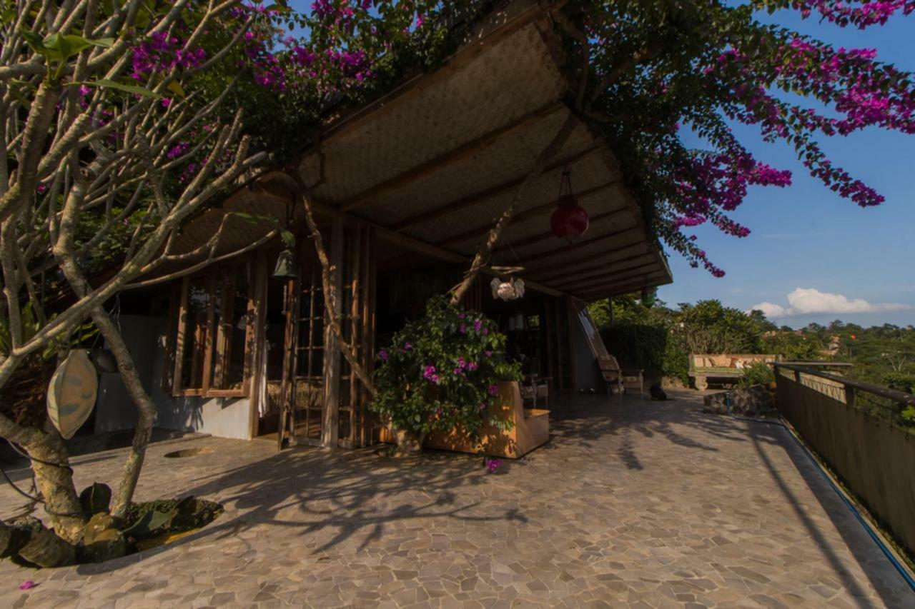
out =
{"type": "Polygon", "coordinates": [[[429,174],[438,171],[442,167],[456,163],[468,156],[476,155],[479,151],[485,150],[490,147],[490,145],[498,142],[503,136],[511,134],[513,131],[522,129],[529,124],[536,123],[545,117],[560,111],[568,112],[565,103],[550,102],[542,108],[524,114],[511,123],[503,124],[501,127],[490,131],[488,134],[483,134],[476,139],[470,140],[466,144],[461,144],[457,148],[452,148],[444,155],[438,155],[436,158],[425,161],[425,163],[411,167],[396,176],[389,177],[382,183],[376,184],[375,186],[367,188],[361,193],[346,199],[340,203],[338,207],[341,211],[351,211],[352,209],[358,208],[359,206],[370,202],[372,198],[377,197],[386,190],[404,187],[421,177],[428,176],[429,174]]]}

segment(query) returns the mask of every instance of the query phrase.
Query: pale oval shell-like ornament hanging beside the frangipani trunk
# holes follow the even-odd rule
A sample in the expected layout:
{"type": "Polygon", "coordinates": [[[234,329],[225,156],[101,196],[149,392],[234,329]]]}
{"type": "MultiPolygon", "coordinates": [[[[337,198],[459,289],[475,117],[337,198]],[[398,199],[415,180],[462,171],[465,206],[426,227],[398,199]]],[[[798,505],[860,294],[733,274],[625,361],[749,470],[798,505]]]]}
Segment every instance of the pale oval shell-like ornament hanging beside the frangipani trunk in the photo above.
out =
{"type": "Polygon", "coordinates": [[[48,417],[65,439],[73,437],[95,407],[99,379],[86,349],[73,349],[48,385],[48,417]]]}

